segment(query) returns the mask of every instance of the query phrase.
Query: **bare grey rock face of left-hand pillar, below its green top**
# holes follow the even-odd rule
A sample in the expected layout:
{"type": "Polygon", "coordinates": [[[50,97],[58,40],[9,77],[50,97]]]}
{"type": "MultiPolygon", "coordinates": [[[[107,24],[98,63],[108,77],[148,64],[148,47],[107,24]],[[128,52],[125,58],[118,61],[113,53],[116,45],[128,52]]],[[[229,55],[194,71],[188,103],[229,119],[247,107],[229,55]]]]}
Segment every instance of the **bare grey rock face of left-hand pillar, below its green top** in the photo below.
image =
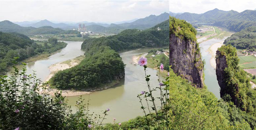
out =
{"type": "Polygon", "coordinates": [[[203,88],[203,62],[196,41],[170,34],[170,65],[174,73],[203,88]]]}

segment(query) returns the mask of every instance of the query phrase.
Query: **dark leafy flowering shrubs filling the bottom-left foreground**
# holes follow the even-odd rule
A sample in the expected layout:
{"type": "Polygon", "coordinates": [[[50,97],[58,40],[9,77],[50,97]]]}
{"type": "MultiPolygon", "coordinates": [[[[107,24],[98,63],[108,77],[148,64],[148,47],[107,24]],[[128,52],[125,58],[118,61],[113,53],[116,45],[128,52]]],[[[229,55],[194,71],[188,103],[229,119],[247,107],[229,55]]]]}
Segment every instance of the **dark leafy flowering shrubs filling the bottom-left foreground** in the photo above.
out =
{"type": "Polygon", "coordinates": [[[98,130],[108,115],[90,114],[89,102],[82,97],[76,101],[77,112],[67,106],[65,97],[56,92],[54,98],[39,85],[36,75],[26,75],[14,67],[11,77],[0,76],[0,129],[1,130],[98,130]],[[91,126],[92,128],[90,128],[91,126]]]}

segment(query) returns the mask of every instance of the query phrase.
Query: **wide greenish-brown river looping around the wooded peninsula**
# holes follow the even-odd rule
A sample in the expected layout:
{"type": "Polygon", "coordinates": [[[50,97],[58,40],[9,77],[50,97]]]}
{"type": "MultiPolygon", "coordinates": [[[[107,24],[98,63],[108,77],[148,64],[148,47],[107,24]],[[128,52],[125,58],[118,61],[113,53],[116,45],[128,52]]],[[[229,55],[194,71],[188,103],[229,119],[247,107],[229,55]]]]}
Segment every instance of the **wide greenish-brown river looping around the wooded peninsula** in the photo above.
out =
{"type": "MultiPolygon", "coordinates": [[[[53,54],[48,59],[38,60],[36,62],[27,63],[27,74],[36,71],[37,78],[45,81],[50,74],[49,66],[54,63],[63,62],[66,60],[73,59],[82,55],[84,52],[80,50],[82,42],[77,41],[65,41],[68,43],[66,48],[63,48],[59,53],[53,54]]],[[[120,53],[120,56],[125,66],[125,78],[121,80],[117,85],[110,89],[92,92],[89,95],[82,95],[85,99],[85,103],[89,100],[89,110],[90,112],[95,112],[95,114],[101,114],[107,108],[108,111],[107,119],[104,123],[113,123],[113,118],[116,118],[117,122],[128,121],[139,115],[143,116],[144,113],[140,109],[141,105],[137,95],[141,91],[147,91],[147,84],[144,78],[144,68],[137,65],[131,64],[132,57],[141,53],[150,51],[151,49],[141,49],[135,51],[126,51],[120,53]]],[[[18,66],[19,69],[22,66],[18,66]]],[[[157,70],[147,68],[147,74],[151,75],[151,86],[159,86],[157,76],[157,70]]],[[[7,73],[10,76],[10,72],[7,73]]],[[[164,76],[163,73],[161,75],[164,76]]],[[[156,94],[156,93],[155,93],[156,94]]],[[[76,101],[78,101],[79,96],[68,96],[68,105],[71,105],[73,111],[76,111],[76,101]]],[[[159,103],[157,103],[159,105],[159,103]]]]}

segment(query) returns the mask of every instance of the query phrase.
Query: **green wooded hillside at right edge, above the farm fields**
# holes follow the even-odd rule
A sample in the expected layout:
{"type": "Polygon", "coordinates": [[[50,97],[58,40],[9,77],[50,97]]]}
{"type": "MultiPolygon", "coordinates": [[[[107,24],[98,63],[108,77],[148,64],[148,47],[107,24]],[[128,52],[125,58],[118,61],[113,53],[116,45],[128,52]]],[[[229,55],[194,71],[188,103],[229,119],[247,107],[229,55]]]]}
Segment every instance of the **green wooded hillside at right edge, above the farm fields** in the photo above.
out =
{"type": "Polygon", "coordinates": [[[253,51],[256,51],[256,26],[234,33],[231,37],[226,38],[224,44],[231,44],[238,49],[253,49],[253,51]]]}

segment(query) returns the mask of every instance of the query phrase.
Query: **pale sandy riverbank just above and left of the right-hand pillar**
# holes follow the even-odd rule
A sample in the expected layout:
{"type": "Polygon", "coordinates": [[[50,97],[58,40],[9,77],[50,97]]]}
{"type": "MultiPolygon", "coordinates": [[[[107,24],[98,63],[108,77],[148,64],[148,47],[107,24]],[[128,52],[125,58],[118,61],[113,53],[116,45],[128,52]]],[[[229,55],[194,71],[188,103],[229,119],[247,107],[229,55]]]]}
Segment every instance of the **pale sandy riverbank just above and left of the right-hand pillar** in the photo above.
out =
{"type": "Polygon", "coordinates": [[[210,48],[208,48],[208,52],[212,55],[211,59],[210,59],[210,64],[211,66],[216,69],[216,61],[215,61],[215,56],[216,56],[216,51],[218,48],[220,48],[223,45],[224,41],[215,43],[213,45],[210,46],[210,48]]]}

